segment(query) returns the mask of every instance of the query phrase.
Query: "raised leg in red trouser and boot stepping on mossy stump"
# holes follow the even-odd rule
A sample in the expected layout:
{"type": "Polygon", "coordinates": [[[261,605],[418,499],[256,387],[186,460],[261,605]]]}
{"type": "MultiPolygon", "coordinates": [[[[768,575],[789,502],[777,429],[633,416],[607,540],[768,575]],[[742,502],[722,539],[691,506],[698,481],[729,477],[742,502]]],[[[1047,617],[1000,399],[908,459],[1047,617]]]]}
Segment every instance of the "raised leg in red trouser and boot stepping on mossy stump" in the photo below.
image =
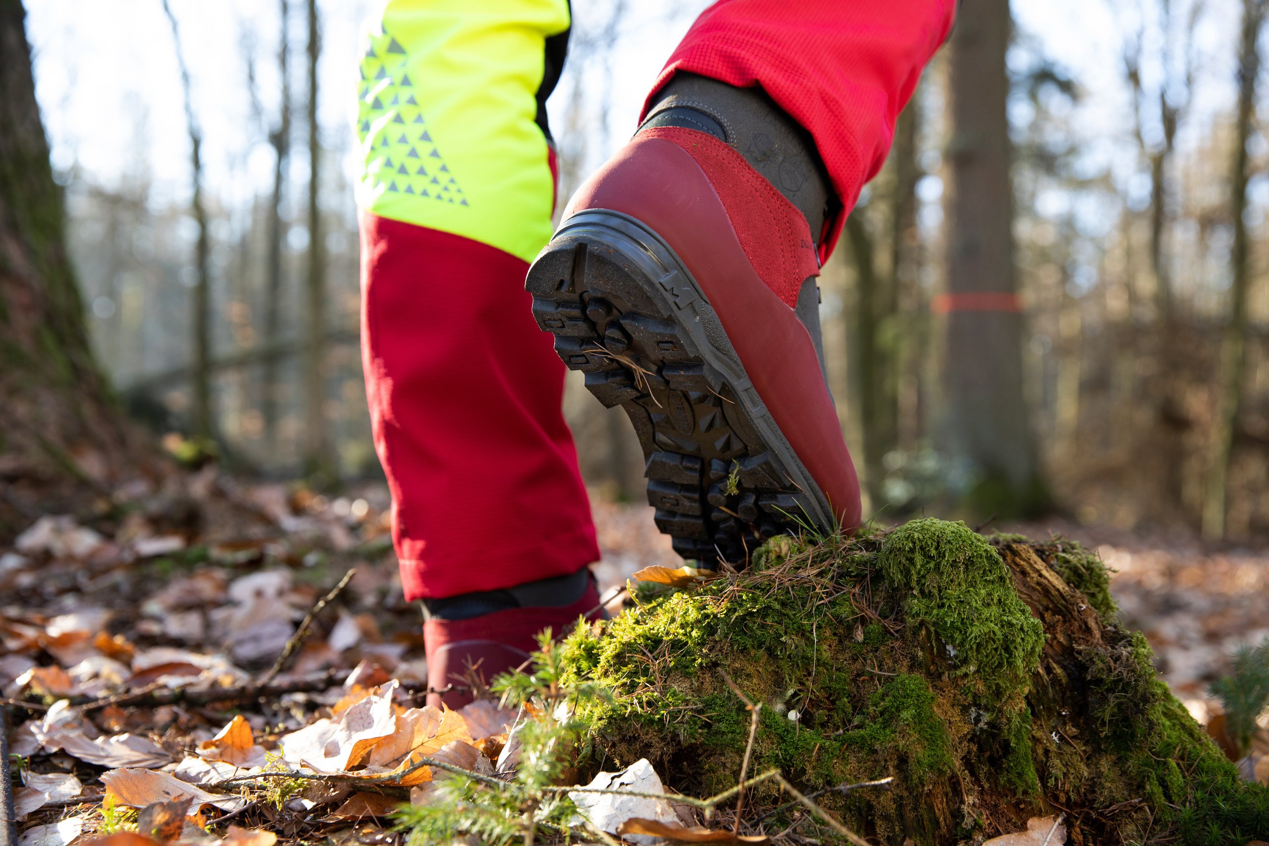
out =
{"type": "Polygon", "coordinates": [[[952,8],[714,4],[529,271],[561,358],[629,415],[657,525],[687,558],[859,523],[813,278],[952,8]]]}

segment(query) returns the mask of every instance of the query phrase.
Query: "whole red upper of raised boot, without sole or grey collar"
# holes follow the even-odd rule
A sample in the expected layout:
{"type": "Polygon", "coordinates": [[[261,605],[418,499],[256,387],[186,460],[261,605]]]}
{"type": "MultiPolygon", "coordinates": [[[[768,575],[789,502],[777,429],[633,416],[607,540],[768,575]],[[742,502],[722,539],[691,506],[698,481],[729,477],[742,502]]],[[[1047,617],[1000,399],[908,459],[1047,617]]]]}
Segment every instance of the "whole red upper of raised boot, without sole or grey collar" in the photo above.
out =
{"type": "Polygon", "coordinates": [[[843,528],[859,525],[859,479],[815,345],[793,312],[819,274],[806,218],[713,136],[640,132],[574,194],[565,219],[610,209],[641,221],[688,266],[754,388],[843,528]]]}

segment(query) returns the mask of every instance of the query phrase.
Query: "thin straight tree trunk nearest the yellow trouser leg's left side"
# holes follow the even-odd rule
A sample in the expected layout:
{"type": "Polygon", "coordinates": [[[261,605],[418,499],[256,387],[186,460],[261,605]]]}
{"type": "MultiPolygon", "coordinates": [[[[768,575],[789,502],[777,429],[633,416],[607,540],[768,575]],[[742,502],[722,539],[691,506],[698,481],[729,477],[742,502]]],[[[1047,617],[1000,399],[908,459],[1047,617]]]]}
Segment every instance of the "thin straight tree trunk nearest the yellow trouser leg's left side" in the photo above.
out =
{"type": "Polygon", "coordinates": [[[305,290],[307,293],[307,336],[308,349],[305,356],[305,465],[310,476],[331,479],[326,438],[326,388],[322,374],[326,325],[326,256],[322,231],[321,208],[317,203],[321,185],[321,138],[317,126],[317,58],[321,55],[321,41],[317,33],[317,0],[308,0],[308,273],[305,290]]]}

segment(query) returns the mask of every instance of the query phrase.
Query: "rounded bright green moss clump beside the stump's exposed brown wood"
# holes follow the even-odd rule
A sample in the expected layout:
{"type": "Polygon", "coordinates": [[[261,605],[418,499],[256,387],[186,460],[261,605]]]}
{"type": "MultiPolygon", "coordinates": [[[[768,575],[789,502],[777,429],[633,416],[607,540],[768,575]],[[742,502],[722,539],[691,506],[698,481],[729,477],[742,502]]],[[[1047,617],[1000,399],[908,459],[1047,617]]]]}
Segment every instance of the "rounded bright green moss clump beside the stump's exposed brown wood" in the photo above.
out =
{"type": "Polygon", "coordinates": [[[982,535],[963,523],[912,520],[890,534],[878,564],[888,582],[909,591],[909,628],[929,625],[982,693],[999,703],[1027,685],[1044,630],[982,535]]]}

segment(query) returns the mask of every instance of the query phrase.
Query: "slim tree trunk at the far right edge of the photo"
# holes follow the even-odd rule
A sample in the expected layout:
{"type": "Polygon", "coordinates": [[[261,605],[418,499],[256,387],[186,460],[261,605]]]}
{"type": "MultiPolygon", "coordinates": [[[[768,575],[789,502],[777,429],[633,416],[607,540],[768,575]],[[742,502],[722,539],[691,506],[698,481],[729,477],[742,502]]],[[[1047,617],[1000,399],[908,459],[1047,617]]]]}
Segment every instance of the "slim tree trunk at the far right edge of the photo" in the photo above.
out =
{"type": "Polygon", "coordinates": [[[1256,77],[1260,75],[1258,41],[1264,14],[1264,0],[1244,0],[1242,46],[1239,51],[1239,112],[1233,124],[1233,169],[1230,179],[1230,222],[1233,225],[1233,246],[1230,251],[1232,265],[1230,322],[1221,344],[1221,373],[1217,382],[1221,394],[1217,403],[1216,443],[1203,502],[1203,534],[1209,538],[1225,537],[1228,529],[1230,469],[1233,465],[1235,434],[1242,411],[1244,377],[1247,367],[1250,266],[1247,225],[1242,218],[1247,208],[1247,138],[1255,115],[1256,77]]]}

